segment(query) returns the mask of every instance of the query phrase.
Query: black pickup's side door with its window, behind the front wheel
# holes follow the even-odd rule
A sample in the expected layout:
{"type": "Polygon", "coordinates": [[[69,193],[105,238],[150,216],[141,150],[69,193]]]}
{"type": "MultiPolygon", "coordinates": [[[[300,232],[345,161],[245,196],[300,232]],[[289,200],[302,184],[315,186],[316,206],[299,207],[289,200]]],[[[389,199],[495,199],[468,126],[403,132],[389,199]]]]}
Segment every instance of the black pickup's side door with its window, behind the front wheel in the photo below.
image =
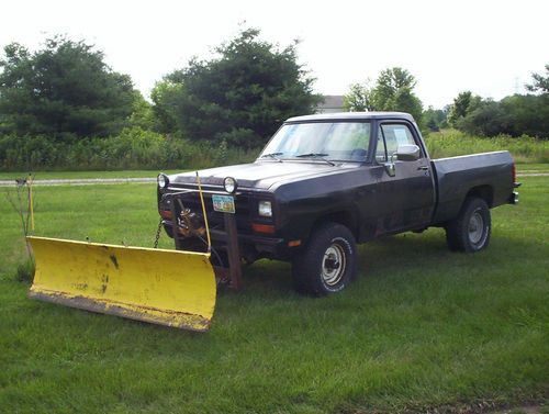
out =
{"type": "Polygon", "coordinates": [[[395,160],[395,176],[380,176],[378,204],[383,211],[378,221],[377,234],[427,225],[435,208],[435,190],[432,167],[419,136],[407,122],[382,122],[378,127],[376,160],[390,160],[399,145],[417,145],[422,155],[415,161],[395,160]]]}

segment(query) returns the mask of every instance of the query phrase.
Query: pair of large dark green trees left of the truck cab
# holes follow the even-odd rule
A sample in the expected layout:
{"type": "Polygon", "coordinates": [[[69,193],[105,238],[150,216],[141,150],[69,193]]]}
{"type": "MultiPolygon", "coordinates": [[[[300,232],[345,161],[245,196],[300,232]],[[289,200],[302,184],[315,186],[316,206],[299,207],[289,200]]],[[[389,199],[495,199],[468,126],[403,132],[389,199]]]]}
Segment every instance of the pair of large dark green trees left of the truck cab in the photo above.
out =
{"type": "Polygon", "coordinates": [[[102,52],[64,37],[30,53],[19,44],[0,59],[0,132],[71,141],[138,126],[239,147],[266,143],[281,120],[311,113],[320,96],[298,63],[296,43],[280,49],[249,29],[159,81],[150,105],[102,52]]]}

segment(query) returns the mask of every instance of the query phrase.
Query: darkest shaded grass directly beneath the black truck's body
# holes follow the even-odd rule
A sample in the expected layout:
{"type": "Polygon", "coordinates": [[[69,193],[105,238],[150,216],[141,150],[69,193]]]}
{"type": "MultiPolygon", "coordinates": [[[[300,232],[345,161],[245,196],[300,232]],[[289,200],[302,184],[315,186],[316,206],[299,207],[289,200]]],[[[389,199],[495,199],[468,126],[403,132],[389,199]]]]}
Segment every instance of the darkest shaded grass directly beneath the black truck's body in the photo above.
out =
{"type": "MultiPolygon", "coordinates": [[[[404,233],[382,237],[358,246],[357,277],[346,290],[356,286],[393,280],[407,283],[423,277],[460,277],[478,272],[494,272],[524,259],[524,251],[540,248],[536,243],[509,237],[498,237],[480,253],[450,251],[441,228],[430,228],[423,234],[404,233]]],[[[300,296],[293,290],[291,265],[274,260],[260,260],[244,268],[244,294],[268,298],[300,296]]]]}

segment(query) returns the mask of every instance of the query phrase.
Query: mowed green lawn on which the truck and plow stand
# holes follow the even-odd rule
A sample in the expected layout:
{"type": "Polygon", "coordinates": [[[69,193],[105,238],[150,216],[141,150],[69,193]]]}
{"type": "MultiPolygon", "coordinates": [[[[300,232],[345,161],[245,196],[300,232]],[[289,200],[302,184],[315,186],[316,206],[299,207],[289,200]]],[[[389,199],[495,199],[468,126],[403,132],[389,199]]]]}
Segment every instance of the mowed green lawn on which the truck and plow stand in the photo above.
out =
{"type": "MultiPolygon", "coordinates": [[[[549,394],[549,177],[493,210],[488,250],[444,232],[360,247],[357,280],[312,299],[287,264],[245,270],[209,333],[26,299],[24,247],[0,202],[1,413],[461,412],[549,394]]],[[[10,189],[13,191],[13,189],[10,189]]],[[[154,184],[36,188],[36,234],[152,246],[154,184]]],[[[164,236],[161,246],[170,248],[164,236]]],[[[184,269],[182,269],[184,271],[184,269]]]]}

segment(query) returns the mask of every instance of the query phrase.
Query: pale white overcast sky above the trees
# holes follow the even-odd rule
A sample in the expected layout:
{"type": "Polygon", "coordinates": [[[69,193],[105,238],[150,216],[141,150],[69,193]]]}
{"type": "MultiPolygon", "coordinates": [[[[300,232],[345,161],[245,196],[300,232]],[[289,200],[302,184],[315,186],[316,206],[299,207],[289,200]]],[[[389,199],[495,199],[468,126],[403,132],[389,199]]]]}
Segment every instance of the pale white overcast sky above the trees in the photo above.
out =
{"type": "Polygon", "coordinates": [[[8,0],[0,10],[2,47],[83,38],[145,96],[190,57],[211,57],[243,21],[281,46],[300,38],[300,63],[324,94],[401,66],[416,77],[424,104],[441,108],[468,89],[494,99],[524,92],[549,64],[547,0],[8,0]]]}

